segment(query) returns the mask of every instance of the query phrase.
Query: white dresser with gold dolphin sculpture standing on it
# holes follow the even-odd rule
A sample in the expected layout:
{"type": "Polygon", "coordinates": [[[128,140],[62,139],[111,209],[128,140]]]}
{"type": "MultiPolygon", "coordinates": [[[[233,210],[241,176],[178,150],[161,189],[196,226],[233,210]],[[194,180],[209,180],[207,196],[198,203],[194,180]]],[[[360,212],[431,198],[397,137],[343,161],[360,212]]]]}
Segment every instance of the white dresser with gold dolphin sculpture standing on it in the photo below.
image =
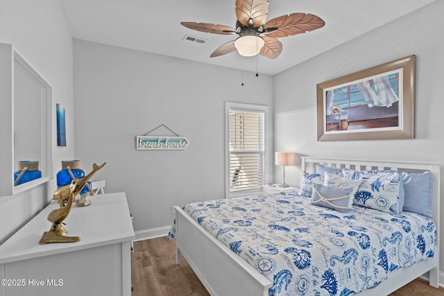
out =
{"type": "Polygon", "coordinates": [[[0,296],[131,295],[133,224],[125,193],[94,195],[72,207],[67,236],[76,243],[40,245],[54,201],[0,245],[0,296]]]}

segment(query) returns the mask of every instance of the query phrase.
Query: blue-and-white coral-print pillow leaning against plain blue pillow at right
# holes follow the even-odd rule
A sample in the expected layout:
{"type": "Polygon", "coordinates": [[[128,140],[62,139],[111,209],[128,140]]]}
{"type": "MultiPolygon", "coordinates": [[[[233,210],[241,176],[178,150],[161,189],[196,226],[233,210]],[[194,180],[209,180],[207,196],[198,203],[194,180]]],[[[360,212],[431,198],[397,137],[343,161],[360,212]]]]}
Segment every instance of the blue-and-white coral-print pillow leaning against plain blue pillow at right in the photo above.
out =
{"type": "Polygon", "coordinates": [[[404,187],[398,171],[355,171],[344,169],[343,175],[362,180],[353,204],[379,211],[400,214],[404,206],[404,187]]]}

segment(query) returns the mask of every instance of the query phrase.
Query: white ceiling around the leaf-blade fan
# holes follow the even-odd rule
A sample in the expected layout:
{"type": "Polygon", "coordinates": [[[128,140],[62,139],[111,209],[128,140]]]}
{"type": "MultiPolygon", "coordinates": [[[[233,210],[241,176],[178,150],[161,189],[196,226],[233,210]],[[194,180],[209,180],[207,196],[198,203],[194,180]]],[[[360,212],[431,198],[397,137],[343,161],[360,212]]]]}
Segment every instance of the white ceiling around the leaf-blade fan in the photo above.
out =
{"type": "Polygon", "coordinates": [[[237,52],[217,58],[210,54],[235,35],[192,31],[181,21],[235,27],[234,2],[218,0],[60,0],[74,38],[160,53],[224,67],[275,74],[359,35],[398,19],[435,0],[271,0],[268,18],[291,12],[318,15],[325,26],[305,34],[280,38],[283,51],[275,60],[237,52]],[[184,40],[191,35],[207,40],[184,40]]]}

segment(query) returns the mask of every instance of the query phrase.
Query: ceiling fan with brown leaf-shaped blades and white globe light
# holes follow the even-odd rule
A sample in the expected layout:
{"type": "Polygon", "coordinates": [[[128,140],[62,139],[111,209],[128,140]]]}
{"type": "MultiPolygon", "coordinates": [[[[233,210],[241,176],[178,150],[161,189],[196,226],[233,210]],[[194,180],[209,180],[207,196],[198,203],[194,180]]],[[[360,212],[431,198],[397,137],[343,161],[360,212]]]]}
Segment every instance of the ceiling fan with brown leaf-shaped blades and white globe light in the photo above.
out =
{"type": "Polygon", "coordinates": [[[210,55],[211,58],[237,50],[240,55],[244,56],[260,54],[266,58],[275,59],[282,52],[282,43],[276,38],[314,31],[325,25],[320,17],[304,12],[282,15],[265,22],[270,5],[267,0],[236,0],[234,5],[237,17],[236,28],[185,21],[180,23],[200,32],[239,35],[236,40],[227,42],[216,49],[210,55]]]}

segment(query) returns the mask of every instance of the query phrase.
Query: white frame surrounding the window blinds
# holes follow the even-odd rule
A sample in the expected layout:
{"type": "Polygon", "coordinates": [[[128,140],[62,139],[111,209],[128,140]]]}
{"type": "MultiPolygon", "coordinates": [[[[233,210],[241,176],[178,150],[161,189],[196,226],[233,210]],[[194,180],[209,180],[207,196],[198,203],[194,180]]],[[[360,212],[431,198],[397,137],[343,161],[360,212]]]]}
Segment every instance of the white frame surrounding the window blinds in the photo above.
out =
{"type": "Polygon", "coordinates": [[[268,139],[272,139],[271,135],[271,120],[269,118],[268,106],[255,105],[248,103],[234,103],[225,102],[225,198],[233,198],[236,196],[262,193],[264,190],[262,186],[260,189],[241,189],[236,192],[230,191],[231,177],[230,177],[230,110],[245,110],[246,112],[264,112],[264,171],[262,182],[268,184],[271,180],[270,173],[270,159],[271,159],[271,143],[268,139]]]}

